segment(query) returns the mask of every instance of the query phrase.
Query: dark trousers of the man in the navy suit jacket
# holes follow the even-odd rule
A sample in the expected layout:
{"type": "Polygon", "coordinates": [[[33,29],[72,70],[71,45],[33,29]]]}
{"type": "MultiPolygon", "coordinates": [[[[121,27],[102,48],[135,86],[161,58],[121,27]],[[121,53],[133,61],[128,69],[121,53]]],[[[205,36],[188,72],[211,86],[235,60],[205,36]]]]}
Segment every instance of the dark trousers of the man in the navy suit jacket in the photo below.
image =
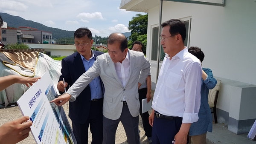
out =
{"type": "Polygon", "coordinates": [[[84,124],[72,121],[73,133],[77,144],[88,144],[88,127],[92,133],[91,144],[102,144],[103,141],[103,122],[102,122],[103,98],[98,101],[90,102],[90,114],[84,124]]]}

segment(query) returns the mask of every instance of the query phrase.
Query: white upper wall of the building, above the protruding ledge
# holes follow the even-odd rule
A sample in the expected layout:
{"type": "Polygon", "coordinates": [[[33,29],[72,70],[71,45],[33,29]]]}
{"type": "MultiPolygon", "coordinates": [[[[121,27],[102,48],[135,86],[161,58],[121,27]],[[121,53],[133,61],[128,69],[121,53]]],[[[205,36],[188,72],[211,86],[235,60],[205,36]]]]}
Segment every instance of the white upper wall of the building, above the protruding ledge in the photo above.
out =
{"type": "MultiPolygon", "coordinates": [[[[204,51],[203,67],[211,68],[213,75],[221,78],[256,84],[255,8],[255,0],[227,0],[225,7],[163,1],[162,22],[191,17],[190,46],[204,51]]],[[[159,6],[149,9],[148,34],[158,26],[158,20],[159,6]]],[[[150,49],[151,35],[147,46],[150,49]]],[[[150,50],[147,57],[151,59],[150,50]]],[[[154,75],[154,61],[151,69],[154,75]]],[[[156,78],[152,77],[152,82],[156,78]]]]}

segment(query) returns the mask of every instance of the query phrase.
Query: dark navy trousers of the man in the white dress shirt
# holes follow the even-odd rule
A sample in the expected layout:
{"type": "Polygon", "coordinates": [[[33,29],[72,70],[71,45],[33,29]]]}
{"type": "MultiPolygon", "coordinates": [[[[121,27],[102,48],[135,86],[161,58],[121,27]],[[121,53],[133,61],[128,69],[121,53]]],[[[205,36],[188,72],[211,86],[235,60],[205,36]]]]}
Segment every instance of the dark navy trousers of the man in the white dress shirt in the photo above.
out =
{"type": "MultiPolygon", "coordinates": [[[[157,118],[154,115],[153,129],[152,129],[152,144],[172,144],[175,135],[180,130],[182,118],[174,117],[173,120],[157,118]]],[[[189,135],[187,136],[187,144],[189,142],[189,135]]]]}

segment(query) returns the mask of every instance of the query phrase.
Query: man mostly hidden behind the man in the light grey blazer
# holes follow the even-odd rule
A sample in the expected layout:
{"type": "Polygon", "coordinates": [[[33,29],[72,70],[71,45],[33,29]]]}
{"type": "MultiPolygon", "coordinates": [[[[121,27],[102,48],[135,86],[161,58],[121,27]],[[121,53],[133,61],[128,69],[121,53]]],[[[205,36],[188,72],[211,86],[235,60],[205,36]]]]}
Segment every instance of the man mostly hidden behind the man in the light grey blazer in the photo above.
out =
{"type": "MultiPolygon", "coordinates": [[[[143,43],[136,40],[134,43],[132,43],[132,49],[133,51],[137,52],[143,52],[143,43]]],[[[146,78],[146,81],[141,84],[139,87],[139,100],[140,100],[140,116],[142,119],[143,129],[145,131],[145,135],[148,138],[148,141],[151,142],[151,135],[152,135],[152,127],[149,124],[148,112],[142,113],[142,100],[147,98],[147,102],[151,100],[151,73],[148,73],[148,76],[146,78]]]]}

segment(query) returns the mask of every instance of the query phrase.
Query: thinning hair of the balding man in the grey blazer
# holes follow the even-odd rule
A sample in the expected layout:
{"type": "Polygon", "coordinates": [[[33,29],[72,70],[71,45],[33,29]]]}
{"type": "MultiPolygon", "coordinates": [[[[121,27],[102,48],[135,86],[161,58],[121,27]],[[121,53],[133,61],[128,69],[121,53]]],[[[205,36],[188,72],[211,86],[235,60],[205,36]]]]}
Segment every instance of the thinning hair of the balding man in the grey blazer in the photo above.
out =
{"type": "Polygon", "coordinates": [[[124,50],[128,47],[128,40],[125,35],[121,33],[112,33],[108,36],[108,44],[113,44],[114,42],[119,42],[120,43],[120,49],[121,52],[124,52],[124,50]]]}

